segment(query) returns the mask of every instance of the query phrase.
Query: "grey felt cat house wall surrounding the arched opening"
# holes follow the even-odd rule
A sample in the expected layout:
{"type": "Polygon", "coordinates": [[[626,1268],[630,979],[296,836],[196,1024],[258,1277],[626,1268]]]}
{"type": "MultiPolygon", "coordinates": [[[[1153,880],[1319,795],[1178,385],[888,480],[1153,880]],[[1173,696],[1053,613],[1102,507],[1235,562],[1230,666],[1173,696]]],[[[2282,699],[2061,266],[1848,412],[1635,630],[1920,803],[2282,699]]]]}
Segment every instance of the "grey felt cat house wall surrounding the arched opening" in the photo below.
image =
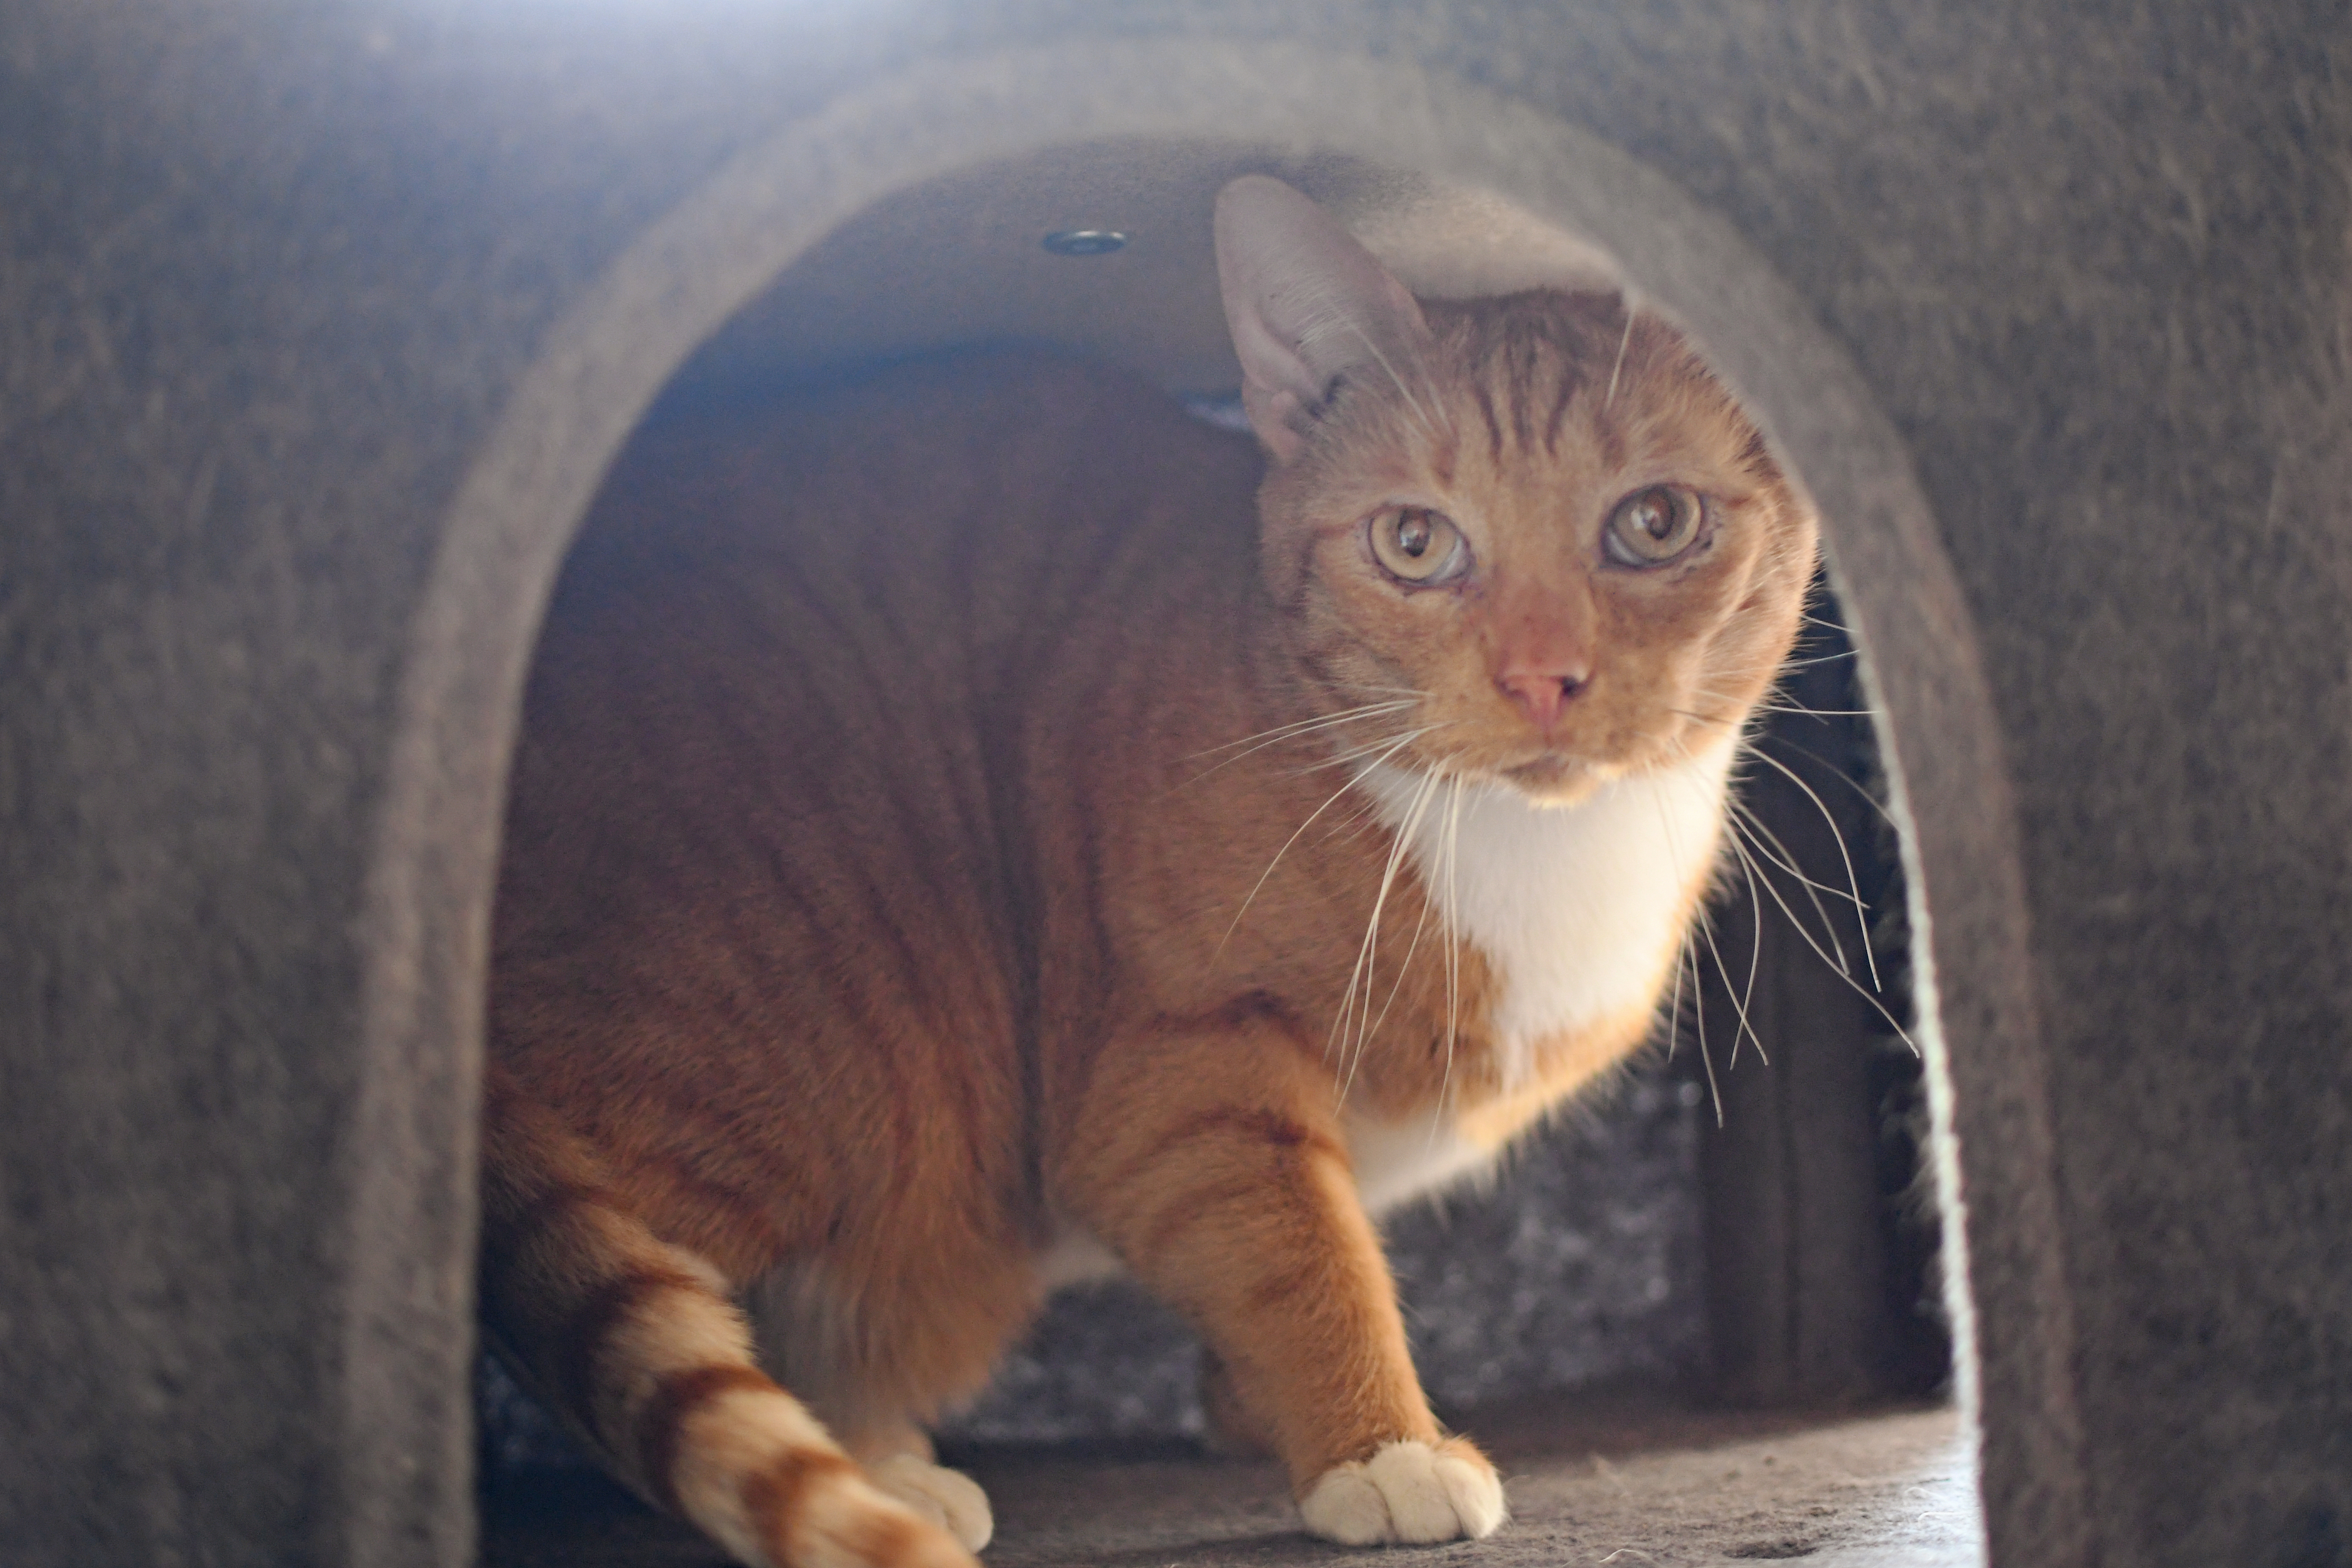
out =
{"type": "MultiPolygon", "coordinates": [[[[466,1556],[499,790],[604,461],[828,237],[936,242],[894,197],[1018,209],[1094,148],[1181,212],[1204,143],[1588,237],[1820,501],[1926,917],[1992,1559],[2345,1561],[2336,12],[35,0],[0,38],[12,1563],[466,1556]]],[[[1176,367],[1127,261],[1061,329],[1176,367]]],[[[941,294],[842,268],[769,350],[1035,310],[1011,263],[889,273],[941,294]]]]}

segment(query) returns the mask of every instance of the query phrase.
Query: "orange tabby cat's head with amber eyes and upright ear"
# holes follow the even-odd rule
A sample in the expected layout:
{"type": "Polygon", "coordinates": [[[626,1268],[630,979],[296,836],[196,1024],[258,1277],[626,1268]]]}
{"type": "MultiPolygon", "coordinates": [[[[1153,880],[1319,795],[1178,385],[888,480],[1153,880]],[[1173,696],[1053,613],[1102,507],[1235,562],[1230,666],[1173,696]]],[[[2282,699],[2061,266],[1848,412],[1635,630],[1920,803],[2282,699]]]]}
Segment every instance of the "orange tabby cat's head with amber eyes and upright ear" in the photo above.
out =
{"type": "Polygon", "coordinates": [[[1395,703],[1350,750],[1569,804],[1731,741],[1818,543],[1689,339],[1618,294],[1418,303],[1265,176],[1216,249],[1265,583],[1327,712],[1395,703]]]}

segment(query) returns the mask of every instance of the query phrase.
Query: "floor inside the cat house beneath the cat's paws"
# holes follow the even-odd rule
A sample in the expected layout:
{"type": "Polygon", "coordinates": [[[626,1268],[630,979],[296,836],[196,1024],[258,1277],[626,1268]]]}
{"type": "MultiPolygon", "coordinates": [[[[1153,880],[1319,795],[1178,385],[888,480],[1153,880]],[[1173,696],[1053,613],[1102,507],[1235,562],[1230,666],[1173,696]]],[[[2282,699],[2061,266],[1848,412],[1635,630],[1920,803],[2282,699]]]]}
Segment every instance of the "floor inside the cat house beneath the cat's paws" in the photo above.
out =
{"type": "MultiPolygon", "coordinates": [[[[1465,1422],[1508,1476],[1512,1521],[1486,1542],[1345,1552],[1298,1533],[1270,1465],[1190,1448],[948,1455],[997,1512],[988,1568],[1980,1568],[1969,1446],[1952,1410],[1792,1418],[1559,1403],[1465,1422]]],[[[485,1568],[715,1568],[691,1530],[579,1472],[503,1479],[485,1497],[485,1568]]]]}

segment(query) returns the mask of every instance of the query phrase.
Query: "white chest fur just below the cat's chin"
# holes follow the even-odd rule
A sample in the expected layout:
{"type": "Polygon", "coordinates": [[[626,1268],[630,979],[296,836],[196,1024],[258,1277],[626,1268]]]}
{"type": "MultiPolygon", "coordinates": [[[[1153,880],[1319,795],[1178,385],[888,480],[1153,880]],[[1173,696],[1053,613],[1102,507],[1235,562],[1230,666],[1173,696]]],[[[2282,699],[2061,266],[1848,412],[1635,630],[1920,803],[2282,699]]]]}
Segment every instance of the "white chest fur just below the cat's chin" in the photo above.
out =
{"type": "Polygon", "coordinates": [[[1731,745],[1576,806],[1508,785],[1428,785],[1374,769],[1362,785],[1404,835],[1425,889],[1501,983],[1496,1048],[1524,1081],[1545,1039],[1642,1006],[1672,961],[1691,889],[1715,865],[1731,745]]]}

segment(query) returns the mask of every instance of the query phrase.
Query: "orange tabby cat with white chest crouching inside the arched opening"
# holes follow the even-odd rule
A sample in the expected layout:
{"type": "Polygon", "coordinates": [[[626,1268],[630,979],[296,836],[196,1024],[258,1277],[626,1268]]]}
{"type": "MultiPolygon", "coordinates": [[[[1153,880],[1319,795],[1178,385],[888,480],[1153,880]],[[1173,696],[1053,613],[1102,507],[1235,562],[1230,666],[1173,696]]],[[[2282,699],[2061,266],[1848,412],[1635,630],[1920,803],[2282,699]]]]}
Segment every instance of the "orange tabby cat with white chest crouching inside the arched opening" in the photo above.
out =
{"type": "Polygon", "coordinates": [[[1813,520],[1616,296],[1416,303],[1261,176],[1216,223],[1263,454],[889,369],[649,428],[550,609],[485,1314],[746,1563],[967,1563],[924,1422],[1110,1267],[1317,1535],[1503,1519],[1371,1215],[1649,1032],[1813,520]]]}

